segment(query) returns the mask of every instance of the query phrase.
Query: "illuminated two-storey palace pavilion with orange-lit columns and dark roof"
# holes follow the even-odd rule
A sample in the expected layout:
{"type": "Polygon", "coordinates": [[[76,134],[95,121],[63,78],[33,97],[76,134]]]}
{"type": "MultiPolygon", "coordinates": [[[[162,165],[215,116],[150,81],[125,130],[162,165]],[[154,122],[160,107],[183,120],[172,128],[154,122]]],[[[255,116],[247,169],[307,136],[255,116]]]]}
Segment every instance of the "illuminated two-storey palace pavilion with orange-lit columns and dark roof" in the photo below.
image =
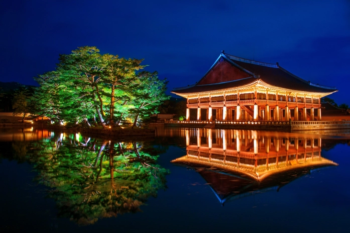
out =
{"type": "Polygon", "coordinates": [[[172,93],[187,99],[187,121],[321,121],[320,98],[336,91],[299,78],[278,63],[222,51],[196,84],[172,93]]]}

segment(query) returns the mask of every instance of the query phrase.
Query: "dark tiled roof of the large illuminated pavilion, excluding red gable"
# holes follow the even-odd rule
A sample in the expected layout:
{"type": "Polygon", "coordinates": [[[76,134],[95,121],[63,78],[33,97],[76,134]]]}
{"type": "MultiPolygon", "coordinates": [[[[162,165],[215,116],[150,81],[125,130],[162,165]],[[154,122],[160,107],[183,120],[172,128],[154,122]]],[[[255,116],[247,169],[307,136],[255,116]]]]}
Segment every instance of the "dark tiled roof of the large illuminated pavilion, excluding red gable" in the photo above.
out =
{"type": "MultiPolygon", "coordinates": [[[[226,61],[230,62],[232,65],[237,68],[243,70],[244,72],[253,73],[255,77],[225,82],[225,83],[214,83],[207,85],[192,85],[188,86],[188,88],[184,87],[181,89],[174,89],[173,93],[193,93],[193,92],[203,92],[203,91],[212,91],[225,89],[229,87],[239,87],[242,85],[246,85],[254,82],[258,78],[264,81],[267,84],[272,86],[286,88],[290,90],[296,91],[307,91],[307,92],[318,92],[318,93],[331,93],[336,92],[335,87],[326,87],[312,84],[302,78],[299,78],[287,70],[280,67],[278,64],[269,64],[263,62],[257,62],[252,60],[247,60],[239,57],[235,57],[226,53],[221,53],[219,58],[216,60],[214,65],[211,67],[215,67],[216,64],[220,62],[220,59],[223,58],[226,61]]],[[[212,69],[205,74],[207,75],[211,72],[212,69]]],[[[204,75],[204,76],[205,76],[204,75]]]]}

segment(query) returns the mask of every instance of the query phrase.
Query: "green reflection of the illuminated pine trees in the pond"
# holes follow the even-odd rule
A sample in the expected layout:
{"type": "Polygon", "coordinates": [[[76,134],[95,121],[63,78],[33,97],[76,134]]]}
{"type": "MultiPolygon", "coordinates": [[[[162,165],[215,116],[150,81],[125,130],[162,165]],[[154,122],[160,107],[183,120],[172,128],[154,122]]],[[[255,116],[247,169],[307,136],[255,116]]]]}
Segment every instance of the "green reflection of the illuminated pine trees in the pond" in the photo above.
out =
{"type": "Polygon", "coordinates": [[[166,188],[168,171],[141,143],[114,143],[60,137],[34,143],[28,154],[38,181],[53,189],[59,214],[79,224],[101,217],[139,211],[158,189],[166,188]],[[86,142],[87,141],[87,142],[86,142]]]}

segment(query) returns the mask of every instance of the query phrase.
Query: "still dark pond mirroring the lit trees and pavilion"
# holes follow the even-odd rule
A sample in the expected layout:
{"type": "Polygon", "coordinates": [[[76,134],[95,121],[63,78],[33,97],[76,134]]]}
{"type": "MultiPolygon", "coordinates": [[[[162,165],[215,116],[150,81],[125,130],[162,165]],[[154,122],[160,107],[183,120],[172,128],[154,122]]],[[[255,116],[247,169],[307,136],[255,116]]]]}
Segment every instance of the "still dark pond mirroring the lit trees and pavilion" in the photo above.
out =
{"type": "Polygon", "coordinates": [[[350,232],[350,137],[0,131],[0,232],[350,232]]]}

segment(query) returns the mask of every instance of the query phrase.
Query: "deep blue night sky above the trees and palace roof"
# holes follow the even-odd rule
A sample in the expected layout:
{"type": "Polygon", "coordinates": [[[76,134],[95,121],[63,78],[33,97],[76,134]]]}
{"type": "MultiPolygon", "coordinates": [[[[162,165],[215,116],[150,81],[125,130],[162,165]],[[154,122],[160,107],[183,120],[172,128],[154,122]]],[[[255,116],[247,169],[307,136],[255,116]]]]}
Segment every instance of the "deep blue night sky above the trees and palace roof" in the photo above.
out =
{"type": "Polygon", "coordinates": [[[198,81],[221,50],[279,64],[350,105],[350,1],[2,1],[0,81],[35,84],[81,46],[144,58],[168,89],[198,81]]]}

